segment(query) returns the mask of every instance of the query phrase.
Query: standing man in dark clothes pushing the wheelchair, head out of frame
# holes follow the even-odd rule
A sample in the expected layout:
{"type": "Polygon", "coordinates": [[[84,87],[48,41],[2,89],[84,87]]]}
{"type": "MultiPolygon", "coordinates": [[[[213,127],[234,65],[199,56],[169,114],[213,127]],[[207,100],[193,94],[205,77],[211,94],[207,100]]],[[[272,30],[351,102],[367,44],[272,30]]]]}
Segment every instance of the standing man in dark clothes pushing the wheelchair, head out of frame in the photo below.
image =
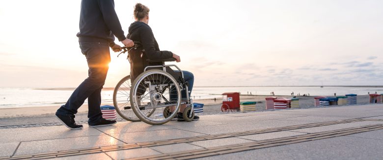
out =
{"type": "Polygon", "coordinates": [[[114,10],[114,0],[82,0],[80,13],[80,49],[88,63],[88,78],[73,91],[65,105],[57,112],[57,118],[69,129],[82,129],[74,118],[77,110],[88,98],[88,124],[90,127],[113,125],[115,120],[102,117],[101,90],[104,86],[110,62],[109,47],[114,52],[120,51],[121,46],[114,44],[114,36],[125,46],[134,46],[127,39],[117,14],[114,10]]]}

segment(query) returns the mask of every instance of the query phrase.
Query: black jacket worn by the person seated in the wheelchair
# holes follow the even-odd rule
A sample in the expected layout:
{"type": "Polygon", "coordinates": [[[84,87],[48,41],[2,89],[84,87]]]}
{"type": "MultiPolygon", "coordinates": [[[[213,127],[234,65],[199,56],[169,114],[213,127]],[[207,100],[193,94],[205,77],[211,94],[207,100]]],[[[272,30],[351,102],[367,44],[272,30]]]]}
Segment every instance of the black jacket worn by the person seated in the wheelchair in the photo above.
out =
{"type": "MultiPolygon", "coordinates": [[[[131,39],[132,41],[139,41],[142,44],[142,48],[129,51],[130,76],[132,82],[143,72],[144,68],[149,65],[146,61],[147,59],[161,60],[173,57],[172,52],[160,50],[158,43],[154,38],[152,29],[146,23],[132,23],[129,26],[129,34],[126,38],[131,39]],[[145,52],[142,52],[142,49],[144,49],[145,52]]],[[[151,65],[161,65],[161,63],[151,65]]]]}

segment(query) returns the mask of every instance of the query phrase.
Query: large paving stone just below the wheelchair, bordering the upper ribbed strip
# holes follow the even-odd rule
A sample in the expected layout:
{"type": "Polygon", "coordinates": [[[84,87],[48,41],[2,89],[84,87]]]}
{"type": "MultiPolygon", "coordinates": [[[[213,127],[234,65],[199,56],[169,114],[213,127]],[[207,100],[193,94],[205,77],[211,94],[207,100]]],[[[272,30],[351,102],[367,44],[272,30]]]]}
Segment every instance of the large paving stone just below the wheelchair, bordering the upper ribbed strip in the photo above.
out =
{"type": "Polygon", "coordinates": [[[159,131],[145,131],[135,133],[123,133],[111,135],[120,139],[128,144],[138,142],[148,142],[156,140],[176,139],[185,137],[197,137],[204,136],[204,134],[182,131],[177,129],[159,130],[159,131]]]}

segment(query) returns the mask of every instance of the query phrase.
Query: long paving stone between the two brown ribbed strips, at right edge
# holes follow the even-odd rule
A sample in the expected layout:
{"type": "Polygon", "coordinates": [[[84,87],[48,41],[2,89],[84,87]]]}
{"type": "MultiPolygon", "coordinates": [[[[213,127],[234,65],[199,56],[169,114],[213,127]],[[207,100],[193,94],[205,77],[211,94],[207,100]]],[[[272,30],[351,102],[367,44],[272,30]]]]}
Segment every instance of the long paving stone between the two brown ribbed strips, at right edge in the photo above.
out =
{"type": "Polygon", "coordinates": [[[334,125],[312,127],[312,128],[303,128],[303,129],[296,129],[296,130],[290,130],[290,131],[304,132],[304,133],[317,133],[317,132],[340,130],[345,128],[360,127],[360,126],[373,125],[373,124],[383,124],[383,122],[361,121],[361,122],[342,123],[342,124],[334,124],[334,125]]]}

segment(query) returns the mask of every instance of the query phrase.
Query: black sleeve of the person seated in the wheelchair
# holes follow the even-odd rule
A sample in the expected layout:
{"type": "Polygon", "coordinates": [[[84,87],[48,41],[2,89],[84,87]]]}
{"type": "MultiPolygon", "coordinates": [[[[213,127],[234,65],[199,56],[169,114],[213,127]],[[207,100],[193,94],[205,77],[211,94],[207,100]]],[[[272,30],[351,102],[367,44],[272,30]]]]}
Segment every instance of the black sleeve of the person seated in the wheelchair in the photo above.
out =
{"type": "Polygon", "coordinates": [[[154,45],[154,36],[150,28],[144,27],[140,31],[141,44],[145,49],[145,55],[150,60],[161,60],[173,57],[173,53],[170,51],[158,51],[154,45]]]}

